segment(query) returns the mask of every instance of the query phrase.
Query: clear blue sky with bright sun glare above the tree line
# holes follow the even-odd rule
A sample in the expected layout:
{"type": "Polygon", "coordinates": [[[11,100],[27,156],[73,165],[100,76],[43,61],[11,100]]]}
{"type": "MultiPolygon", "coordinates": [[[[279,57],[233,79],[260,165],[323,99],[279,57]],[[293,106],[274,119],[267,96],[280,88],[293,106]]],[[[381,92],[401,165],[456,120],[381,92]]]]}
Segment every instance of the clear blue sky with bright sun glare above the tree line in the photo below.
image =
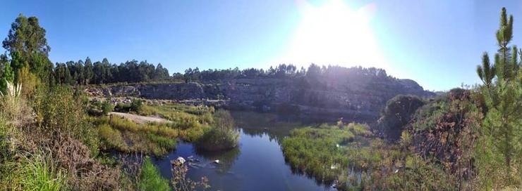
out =
{"type": "Polygon", "coordinates": [[[502,7],[514,15],[514,44],[522,38],[522,1],[2,3],[0,39],[18,14],[36,16],[47,30],[52,62],[87,56],[113,63],[147,60],[171,73],[281,63],[360,65],[383,68],[432,91],[479,82],[475,67],[484,51],[497,50],[494,33],[502,7]]]}

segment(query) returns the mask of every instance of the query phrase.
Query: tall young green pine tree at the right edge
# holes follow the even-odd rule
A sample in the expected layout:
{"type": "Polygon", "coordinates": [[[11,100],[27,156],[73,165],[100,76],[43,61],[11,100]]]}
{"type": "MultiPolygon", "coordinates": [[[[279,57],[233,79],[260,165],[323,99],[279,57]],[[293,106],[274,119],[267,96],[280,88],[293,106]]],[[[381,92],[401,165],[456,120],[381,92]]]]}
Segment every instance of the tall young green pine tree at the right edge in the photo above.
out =
{"type": "Polygon", "coordinates": [[[513,16],[507,18],[506,8],[502,8],[496,36],[499,49],[494,64],[490,65],[490,58],[484,53],[477,74],[484,83],[481,90],[487,105],[484,133],[493,139],[494,150],[503,155],[511,171],[512,164],[522,157],[522,72],[518,70],[518,48],[509,46],[513,16]]]}

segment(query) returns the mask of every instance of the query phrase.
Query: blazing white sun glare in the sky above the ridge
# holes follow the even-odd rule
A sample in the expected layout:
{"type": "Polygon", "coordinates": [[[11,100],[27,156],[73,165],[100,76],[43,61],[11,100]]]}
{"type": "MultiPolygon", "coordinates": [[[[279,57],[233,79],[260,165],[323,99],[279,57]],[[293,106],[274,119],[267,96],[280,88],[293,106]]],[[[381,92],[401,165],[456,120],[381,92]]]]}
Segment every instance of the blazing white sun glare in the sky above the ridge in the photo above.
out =
{"type": "Polygon", "coordinates": [[[281,62],[384,67],[384,58],[370,27],[374,4],[353,10],[341,0],[322,6],[298,3],[301,22],[281,62]]]}

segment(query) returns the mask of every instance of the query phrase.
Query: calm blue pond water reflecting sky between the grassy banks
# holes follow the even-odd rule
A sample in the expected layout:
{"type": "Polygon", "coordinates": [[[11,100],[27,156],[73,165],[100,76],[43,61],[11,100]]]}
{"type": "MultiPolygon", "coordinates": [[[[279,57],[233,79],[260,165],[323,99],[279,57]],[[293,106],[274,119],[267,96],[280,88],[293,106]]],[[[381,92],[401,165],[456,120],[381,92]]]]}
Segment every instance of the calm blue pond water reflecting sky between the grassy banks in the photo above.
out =
{"type": "Polygon", "coordinates": [[[211,190],[329,190],[313,178],[295,173],[284,161],[281,140],[289,130],[303,124],[289,117],[255,112],[232,112],[240,128],[239,145],[226,152],[202,152],[191,143],[178,143],[166,157],[154,159],[162,176],[171,178],[170,161],[193,156],[200,162],[190,166],[188,177],[206,176],[211,190]],[[219,159],[219,164],[213,161],[219,159]]]}

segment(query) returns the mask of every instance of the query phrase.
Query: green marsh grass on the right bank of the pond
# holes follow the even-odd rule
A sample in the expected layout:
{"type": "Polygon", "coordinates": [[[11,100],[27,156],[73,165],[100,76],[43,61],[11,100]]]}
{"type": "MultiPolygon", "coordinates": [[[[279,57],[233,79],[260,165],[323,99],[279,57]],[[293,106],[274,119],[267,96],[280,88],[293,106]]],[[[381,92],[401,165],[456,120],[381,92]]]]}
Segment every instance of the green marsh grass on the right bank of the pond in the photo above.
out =
{"type": "Polygon", "coordinates": [[[281,146],[293,169],[324,183],[338,180],[339,190],[458,188],[444,166],[371,136],[364,124],[321,124],[294,129],[281,146]]]}

